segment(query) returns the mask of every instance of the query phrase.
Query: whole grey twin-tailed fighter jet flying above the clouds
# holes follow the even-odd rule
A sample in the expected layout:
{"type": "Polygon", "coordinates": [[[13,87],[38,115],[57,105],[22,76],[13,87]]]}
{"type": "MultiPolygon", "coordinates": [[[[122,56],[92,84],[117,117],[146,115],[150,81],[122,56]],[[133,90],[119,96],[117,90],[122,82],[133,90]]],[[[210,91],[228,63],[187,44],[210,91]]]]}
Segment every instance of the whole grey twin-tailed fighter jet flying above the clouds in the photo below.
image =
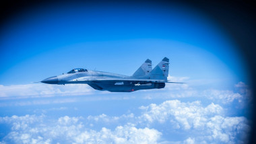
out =
{"type": "Polygon", "coordinates": [[[132,76],[78,68],[40,82],[58,85],[84,83],[100,91],[135,92],[139,89],[161,89],[165,83],[179,83],[167,80],[168,70],[169,59],[164,57],[154,69],[152,61],[147,59],[132,76]]]}

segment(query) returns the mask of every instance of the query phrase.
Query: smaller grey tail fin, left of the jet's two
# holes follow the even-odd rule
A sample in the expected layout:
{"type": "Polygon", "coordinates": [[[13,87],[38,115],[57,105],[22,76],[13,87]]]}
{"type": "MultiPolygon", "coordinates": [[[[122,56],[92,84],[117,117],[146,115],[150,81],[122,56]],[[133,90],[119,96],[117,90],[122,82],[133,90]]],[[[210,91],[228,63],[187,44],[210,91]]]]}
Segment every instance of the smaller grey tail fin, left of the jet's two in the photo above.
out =
{"type": "Polygon", "coordinates": [[[148,75],[150,71],[152,71],[152,61],[150,59],[147,59],[145,63],[143,63],[141,67],[139,67],[139,69],[137,69],[137,71],[133,73],[133,77],[148,75]]]}

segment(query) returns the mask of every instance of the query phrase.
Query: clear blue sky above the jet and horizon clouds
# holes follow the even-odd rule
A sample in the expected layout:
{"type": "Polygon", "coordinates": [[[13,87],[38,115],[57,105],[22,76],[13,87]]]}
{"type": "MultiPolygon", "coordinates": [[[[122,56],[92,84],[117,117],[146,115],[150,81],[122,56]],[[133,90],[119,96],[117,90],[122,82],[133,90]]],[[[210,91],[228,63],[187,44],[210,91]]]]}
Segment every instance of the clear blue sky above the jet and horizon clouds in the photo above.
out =
{"type": "Polygon", "coordinates": [[[173,61],[174,76],[247,78],[222,28],[179,4],[34,7],[5,23],[0,46],[2,85],[40,81],[75,67],[131,75],[146,59],[156,65],[162,57],[173,61]]]}

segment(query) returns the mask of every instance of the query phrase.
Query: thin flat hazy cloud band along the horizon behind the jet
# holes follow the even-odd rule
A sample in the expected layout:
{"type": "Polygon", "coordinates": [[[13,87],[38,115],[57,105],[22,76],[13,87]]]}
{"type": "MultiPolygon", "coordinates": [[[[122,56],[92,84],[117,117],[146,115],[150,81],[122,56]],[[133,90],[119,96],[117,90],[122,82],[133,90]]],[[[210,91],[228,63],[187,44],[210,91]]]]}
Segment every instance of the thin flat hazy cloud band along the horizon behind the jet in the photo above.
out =
{"type": "MultiPolygon", "coordinates": [[[[172,77],[177,81],[184,81],[188,77],[172,77]]],[[[200,87],[200,86],[199,86],[200,87]]],[[[212,102],[230,104],[234,101],[247,102],[251,100],[251,92],[249,87],[243,82],[234,85],[234,89],[199,89],[197,86],[189,84],[166,84],[164,89],[141,90],[139,96],[144,99],[170,99],[170,98],[206,98],[212,102]],[[142,93],[141,93],[142,92],[142,93]],[[152,95],[151,93],[155,94],[152,95]]],[[[26,98],[51,98],[58,96],[85,96],[94,94],[109,94],[109,92],[99,92],[85,84],[75,85],[46,85],[46,84],[27,84],[27,85],[0,85],[0,100],[26,99],[26,98]]],[[[129,98],[138,98],[136,94],[130,94],[129,98]],[[132,97],[135,96],[135,97],[132,97]]],[[[67,100],[69,101],[69,100],[67,100]]],[[[72,100],[71,100],[72,101],[72,100]]],[[[78,100],[79,101],[79,100],[78,100]]],[[[65,100],[63,101],[65,102],[65,100]]],[[[75,102],[75,100],[73,100],[75,102]]],[[[31,104],[40,104],[39,102],[31,102],[31,104]]],[[[47,103],[47,102],[46,102],[47,103]]],[[[55,103],[53,101],[53,103],[55,103]]],[[[24,105],[20,104],[20,105],[24,105]]],[[[25,104],[26,105],[26,104],[25,104]]],[[[1,106],[1,104],[0,104],[1,106]]]]}

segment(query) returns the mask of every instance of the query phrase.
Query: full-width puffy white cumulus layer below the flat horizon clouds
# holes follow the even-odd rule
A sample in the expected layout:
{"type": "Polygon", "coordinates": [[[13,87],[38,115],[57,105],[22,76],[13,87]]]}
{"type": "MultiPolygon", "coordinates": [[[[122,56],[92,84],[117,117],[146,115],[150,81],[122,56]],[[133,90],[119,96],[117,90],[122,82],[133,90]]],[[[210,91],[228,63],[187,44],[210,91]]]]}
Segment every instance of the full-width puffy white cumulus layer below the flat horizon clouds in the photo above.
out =
{"type": "Polygon", "coordinates": [[[11,143],[243,143],[250,130],[244,116],[225,116],[218,104],[167,100],[138,108],[141,114],[121,116],[1,117],[11,143]],[[164,133],[170,133],[166,137],[164,133]],[[183,139],[173,141],[179,133],[183,139]],[[172,137],[173,136],[173,137],[172,137]]]}

